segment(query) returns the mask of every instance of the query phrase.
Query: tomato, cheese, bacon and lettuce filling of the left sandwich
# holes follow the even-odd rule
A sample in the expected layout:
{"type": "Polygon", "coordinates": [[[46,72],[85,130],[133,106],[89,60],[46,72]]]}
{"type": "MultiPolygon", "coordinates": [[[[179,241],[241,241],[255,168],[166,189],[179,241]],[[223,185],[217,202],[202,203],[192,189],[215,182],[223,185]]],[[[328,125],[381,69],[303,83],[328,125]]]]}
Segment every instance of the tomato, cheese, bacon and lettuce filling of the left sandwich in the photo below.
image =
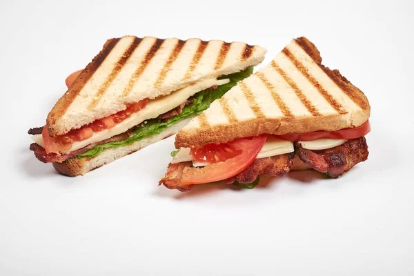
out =
{"type": "Polygon", "coordinates": [[[232,75],[193,83],[164,97],[143,99],[60,137],[50,137],[47,127],[31,129],[29,133],[34,135],[35,144],[30,150],[40,161],[63,162],[72,157],[92,158],[105,148],[128,146],[198,115],[252,72],[253,67],[249,67],[232,75]]]}

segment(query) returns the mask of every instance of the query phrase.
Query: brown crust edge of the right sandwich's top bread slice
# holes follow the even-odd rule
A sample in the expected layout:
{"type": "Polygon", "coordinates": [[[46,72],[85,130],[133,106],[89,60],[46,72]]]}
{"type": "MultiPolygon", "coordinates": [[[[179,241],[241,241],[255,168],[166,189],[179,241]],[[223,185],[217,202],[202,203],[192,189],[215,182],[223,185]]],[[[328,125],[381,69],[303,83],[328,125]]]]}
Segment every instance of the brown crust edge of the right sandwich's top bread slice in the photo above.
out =
{"type": "MultiPolygon", "coordinates": [[[[338,70],[330,70],[322,65],[319,50],[305,37],[296,39],[297,44],[312,57],[339,88],[360,107],[353,112],[333,115],[315,115],[308,117],[279,117],[276,119],[257,117],[246,121],[230,121],[229,124],[184,128],[175,139],[176,148],[199,147],[205,144],[222,144],[242,137],[254,137],[261,134],[283,135],[286,133],[304,133],[317,130],[334,131],[343,128],[361,126],[370,116],[371,107],[364,93],[343,77],[338,70]]],[[[257,74],[257,73],[256,73],[257,74]]],[[[231,92],[231,90],[230,90],[231,92]]]]}

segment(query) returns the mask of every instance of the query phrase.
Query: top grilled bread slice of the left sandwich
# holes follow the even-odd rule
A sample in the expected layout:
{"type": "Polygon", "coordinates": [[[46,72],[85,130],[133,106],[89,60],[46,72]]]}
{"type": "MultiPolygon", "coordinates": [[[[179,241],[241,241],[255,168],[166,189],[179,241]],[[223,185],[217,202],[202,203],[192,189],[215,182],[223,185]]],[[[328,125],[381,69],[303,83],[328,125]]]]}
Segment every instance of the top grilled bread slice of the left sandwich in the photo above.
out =
{"type": "Polygon", "coordinates": [[[244,70],[262,62],[266,50],[242,42],[156,37],[109,39],[99,55],[57,101],[47,118],[49,135],[154,99],[202,79],[244,70]]]}

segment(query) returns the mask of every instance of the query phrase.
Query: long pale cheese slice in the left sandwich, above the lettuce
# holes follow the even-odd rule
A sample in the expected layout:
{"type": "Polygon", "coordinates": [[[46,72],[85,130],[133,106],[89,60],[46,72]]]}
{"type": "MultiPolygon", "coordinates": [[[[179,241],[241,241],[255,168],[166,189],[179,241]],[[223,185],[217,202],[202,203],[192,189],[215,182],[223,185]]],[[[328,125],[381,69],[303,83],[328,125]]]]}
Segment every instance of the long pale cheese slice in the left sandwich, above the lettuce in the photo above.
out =
{"type": "MultiPolygon", "coordinates": [[[[99,132],[94,132],[92,137],[90,137],[89,139],[76,141],[72,144],[72,148],[70,148],[68,152],[79,150],[79,148],[84,148],[89,144],[97,143],[99,141],[109,139],[110,137],[113,137],[115,135],[124,133],[126,132],[126,130],[141,124],[143,121],[152,118],[157,118],[159,115],[176,108],[181,103],[184,103],[186,99],[195,95],[197,92],[200,92],[212,86],[221,86],[228,82],[230,82],[230,79],[206,79],[204,81],[199,81],[185,88],[176,90],[175,92],[172,92],[170,95],[159,97],[156,99],[151,99],[148,101],[144,109],[139,110],[139,112],[126,118],[124,121],[121,121],[121,123],[117,124],[113,128],[99,132]]],[[[34,135],[32,139],[37,144],[39,144],[39,146],[43,147],[43,141],[40,141],[41,135],[34,135]]]]}

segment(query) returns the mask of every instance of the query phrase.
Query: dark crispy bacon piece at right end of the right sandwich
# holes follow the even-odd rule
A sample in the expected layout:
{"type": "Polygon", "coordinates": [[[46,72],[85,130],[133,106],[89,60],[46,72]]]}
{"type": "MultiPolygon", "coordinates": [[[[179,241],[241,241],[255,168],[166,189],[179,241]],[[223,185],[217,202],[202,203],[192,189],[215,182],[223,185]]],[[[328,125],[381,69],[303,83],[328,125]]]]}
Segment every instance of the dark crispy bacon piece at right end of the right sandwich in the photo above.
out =
{"type": "Polygon", "coordinates": [[[334,178],[351,170],[359,162],[365,161],[368,153],[365,137],[351,139],[341,146],[326,150],[306,150],[302,146],[298,148],[298,155],[302,161],[334,178]]]}

